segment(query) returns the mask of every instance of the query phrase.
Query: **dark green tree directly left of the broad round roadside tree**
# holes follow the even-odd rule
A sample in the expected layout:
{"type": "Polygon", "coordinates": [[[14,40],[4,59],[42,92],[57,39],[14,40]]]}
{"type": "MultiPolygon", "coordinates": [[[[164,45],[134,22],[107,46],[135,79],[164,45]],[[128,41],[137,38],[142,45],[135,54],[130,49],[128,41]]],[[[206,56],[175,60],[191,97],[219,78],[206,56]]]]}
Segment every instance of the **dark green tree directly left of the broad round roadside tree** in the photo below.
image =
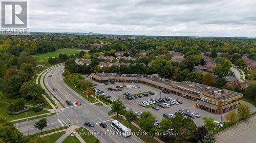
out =
{"type": "Polygon", "coordinates": [[[14,75],[8,80],[8,91],[12,95],[17,94],[21,86],[22,78],[18,75],[14,75]]]}

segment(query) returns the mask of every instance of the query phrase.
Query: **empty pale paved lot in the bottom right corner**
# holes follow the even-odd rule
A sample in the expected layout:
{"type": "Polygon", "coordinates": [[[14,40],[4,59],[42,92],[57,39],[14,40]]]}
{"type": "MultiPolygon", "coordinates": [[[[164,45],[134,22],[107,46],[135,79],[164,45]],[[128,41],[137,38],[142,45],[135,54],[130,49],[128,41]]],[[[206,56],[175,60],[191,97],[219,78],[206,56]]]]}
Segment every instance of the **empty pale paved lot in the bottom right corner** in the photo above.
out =
{"type": "Polygon", "coordinates": [[[216,134],[217,143],[254,143],[256,140],[256,115],[216,134]]]}

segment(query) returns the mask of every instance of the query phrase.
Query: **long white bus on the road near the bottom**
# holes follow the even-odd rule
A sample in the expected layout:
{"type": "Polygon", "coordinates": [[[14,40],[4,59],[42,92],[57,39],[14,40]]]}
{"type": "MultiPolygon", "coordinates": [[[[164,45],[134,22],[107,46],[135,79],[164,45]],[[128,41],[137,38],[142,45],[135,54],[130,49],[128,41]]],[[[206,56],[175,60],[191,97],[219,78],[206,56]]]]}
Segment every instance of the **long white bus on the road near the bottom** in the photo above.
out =
{"type": "Polygon", "coordinates": [[[111,127],[116,129],[124,137],[130,136],[132,134],[131,129],[125,127],[123,124],[119,123],[119,121],[117,120],[114,120],[111,122],[111,127]]]}

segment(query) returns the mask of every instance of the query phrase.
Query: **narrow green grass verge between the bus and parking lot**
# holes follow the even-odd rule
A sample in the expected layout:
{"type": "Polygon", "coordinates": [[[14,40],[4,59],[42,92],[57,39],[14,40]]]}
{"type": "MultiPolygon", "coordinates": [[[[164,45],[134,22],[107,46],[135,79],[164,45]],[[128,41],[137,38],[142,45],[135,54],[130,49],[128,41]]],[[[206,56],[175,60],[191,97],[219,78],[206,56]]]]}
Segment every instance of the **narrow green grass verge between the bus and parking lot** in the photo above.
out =
{"type": "MultiPolygon", "coordinates": [[[[117,119],[116,116],[113,117],[113,119],[118,120],[118,121],[119,121],[120,123],[122,123],[124,126],[126,126],[127,128],[130,128],[130,123],[127,122],[126,120],[124,120],[124,119],[117,119]]],[[[138,133],[137,136],[138,136],[140,139],[142,139],[143,141],[145,141],[145,142],[159,143],[156,139],[154,139],[154,138],[152,138],[152,137],[150,137],[149,140],[148,140],[147,136],[146,136],[146,135],[143,135],[143,133],[141,132],[141,130],[140,130],[139,128],[135,127],[134,125],[132,125],[132,127],[131,127],[130,129],[132,130],[132,132],[140,132],[140,133],[138,133]]]]}

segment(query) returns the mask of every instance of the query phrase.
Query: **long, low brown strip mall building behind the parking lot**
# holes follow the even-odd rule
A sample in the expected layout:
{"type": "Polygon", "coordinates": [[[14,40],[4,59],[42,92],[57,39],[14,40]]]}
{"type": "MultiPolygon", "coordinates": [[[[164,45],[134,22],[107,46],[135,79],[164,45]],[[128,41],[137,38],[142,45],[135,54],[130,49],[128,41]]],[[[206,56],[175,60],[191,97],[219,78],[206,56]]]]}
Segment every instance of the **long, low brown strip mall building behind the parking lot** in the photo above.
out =
{"type": "Polygon", "coordinates": [[[197,108],[211,113],[222,114],[237,108],[243,94],[221,90],[191,81],[175,82],[157,75],[93,73],[91,78],[98,82],[140,82],[152,87],[168,90],[172,94],[193,100],[197,108]]]}

